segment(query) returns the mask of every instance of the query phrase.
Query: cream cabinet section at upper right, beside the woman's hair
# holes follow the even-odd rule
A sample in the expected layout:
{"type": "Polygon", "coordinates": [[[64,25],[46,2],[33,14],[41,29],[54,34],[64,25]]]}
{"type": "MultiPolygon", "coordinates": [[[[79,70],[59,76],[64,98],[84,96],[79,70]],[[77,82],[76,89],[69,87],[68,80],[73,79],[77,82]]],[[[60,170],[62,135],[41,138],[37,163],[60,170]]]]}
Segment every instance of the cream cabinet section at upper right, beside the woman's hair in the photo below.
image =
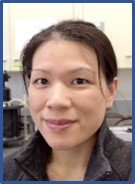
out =
{"type": "Polygon", "coordinates": [[[104,23],[119,68],[132,67],[132,3],[82,3],[78,17],[104,23]]]}

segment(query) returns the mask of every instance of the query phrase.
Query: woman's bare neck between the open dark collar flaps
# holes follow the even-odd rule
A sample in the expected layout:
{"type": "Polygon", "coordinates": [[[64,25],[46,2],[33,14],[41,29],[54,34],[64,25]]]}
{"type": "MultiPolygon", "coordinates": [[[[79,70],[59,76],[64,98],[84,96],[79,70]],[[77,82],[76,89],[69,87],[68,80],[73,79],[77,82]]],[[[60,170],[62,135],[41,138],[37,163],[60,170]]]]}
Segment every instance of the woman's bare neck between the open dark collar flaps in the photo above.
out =
{"type": "MultiPolygon", "coordinates": [[[[54,175],[62,175],[62,179],[79,180],[83,179],[87,165],[95,145],[95,136],[81,145],[68,150],[52,150],[52,162],[49,164],[50,172],[54,175]],[[60,173],[60,174],[59,174],[60,173]],[[68,173],[68,175],[67,175],[68,173]]],[[[55,179],[55,178],[54,178],[55,179]]]]}

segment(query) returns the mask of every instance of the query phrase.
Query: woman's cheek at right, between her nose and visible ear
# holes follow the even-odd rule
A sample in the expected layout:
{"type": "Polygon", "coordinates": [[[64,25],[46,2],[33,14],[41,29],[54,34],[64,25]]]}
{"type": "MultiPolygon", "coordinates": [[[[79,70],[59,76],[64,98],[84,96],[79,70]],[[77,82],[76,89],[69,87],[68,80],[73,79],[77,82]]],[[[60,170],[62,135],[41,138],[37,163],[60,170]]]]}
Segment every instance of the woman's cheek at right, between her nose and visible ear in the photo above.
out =
{"type": "Polygon", "coordinates": [[[96,131],[102,124],[106,113],[106,100],[99,90],[85,93],[78,98],[78,112],[82,129],[96,131]]]}

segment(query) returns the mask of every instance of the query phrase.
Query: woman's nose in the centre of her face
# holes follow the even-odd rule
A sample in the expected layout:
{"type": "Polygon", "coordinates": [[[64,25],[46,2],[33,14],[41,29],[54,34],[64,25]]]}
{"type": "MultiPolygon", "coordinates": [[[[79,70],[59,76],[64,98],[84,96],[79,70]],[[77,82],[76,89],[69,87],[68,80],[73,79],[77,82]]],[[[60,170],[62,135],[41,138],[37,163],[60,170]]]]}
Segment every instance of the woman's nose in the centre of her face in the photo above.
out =
{"type": "Polygon", "coordinates": [[[71,106],[70,92],[66,86],[56,84],[49,89],[46,107],[53,110],[69,109],[71,106]]]}

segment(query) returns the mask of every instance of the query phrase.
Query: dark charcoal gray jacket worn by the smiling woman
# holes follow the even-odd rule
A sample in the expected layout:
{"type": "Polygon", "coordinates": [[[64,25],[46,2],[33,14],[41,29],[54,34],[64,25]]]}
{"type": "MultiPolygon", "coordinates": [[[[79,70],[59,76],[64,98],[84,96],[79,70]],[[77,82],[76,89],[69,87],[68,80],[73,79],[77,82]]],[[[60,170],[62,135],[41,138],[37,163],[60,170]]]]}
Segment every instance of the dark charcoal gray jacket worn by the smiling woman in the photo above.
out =
{"type": "MultiPolygon", "coordinates": [[[[4,159],[3,180],[48,181],[44,171],[50,153],[51,148],[37,131],[26,146],[4,159]]],[[[131,153],[131,144],[117,138],[107,123],[103,123],[97,132],[84,181],[131,180],[131,153]]]]}

